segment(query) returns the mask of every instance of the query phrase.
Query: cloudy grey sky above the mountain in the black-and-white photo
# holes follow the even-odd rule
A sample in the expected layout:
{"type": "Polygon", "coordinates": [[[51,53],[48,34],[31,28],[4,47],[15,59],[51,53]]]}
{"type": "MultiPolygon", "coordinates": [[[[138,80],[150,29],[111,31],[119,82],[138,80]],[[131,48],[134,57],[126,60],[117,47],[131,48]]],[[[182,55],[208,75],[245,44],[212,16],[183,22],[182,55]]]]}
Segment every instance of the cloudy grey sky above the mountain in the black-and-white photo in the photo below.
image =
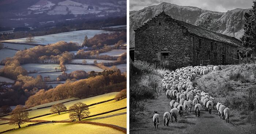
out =
{"type": "Polygon", "coordinates": [[[189,5],[211,11],[227,12],[235,8],[252,8],[252,0],[130,0],[130,11],[140,10],[162,2],[189,5]]]}

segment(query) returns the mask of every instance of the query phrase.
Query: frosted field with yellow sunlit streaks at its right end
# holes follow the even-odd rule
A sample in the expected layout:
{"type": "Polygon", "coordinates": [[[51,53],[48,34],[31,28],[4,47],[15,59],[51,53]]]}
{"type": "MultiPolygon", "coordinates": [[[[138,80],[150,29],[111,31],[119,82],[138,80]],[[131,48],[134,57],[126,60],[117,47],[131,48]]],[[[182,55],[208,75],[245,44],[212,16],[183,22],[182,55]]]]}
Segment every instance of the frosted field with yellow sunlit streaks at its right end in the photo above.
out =
{"type": "Polygon", "coordinates": [[[21,65],[25,70],[29,71],[38,71],[39,72],[53,72],[56,71],[55,68],[57,67],[57,71],[60,71],[60,65],[55,63],[49,64],[38,64],[38,63],[31,63],[31,64],[23,64],[21,65]]]}

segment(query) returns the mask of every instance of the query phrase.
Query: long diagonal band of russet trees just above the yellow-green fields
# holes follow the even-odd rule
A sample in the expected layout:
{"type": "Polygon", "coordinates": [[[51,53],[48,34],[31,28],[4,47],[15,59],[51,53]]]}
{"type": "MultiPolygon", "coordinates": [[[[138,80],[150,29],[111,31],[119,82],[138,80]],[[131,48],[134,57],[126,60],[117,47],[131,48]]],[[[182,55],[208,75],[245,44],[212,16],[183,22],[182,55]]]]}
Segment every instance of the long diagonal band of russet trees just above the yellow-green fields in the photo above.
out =
{"type": "Polygon", "coordinates": [[[35,95],[29,97],[25,105],[26,107],[33,107],[72,97],[86,98],[124,88],[126,88],[126,76],[120,71],[113,71],[109,75],[91,76],[88,79],[75,82],[67,81],[47,91],[39,90],[35,95]]]}

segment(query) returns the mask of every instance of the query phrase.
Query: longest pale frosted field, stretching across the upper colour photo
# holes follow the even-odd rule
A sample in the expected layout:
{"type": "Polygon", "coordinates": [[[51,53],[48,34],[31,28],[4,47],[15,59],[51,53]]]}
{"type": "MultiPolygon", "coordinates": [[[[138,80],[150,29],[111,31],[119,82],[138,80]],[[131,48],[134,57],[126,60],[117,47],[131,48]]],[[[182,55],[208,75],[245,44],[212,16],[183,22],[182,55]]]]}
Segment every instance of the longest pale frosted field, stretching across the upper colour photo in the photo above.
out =
{"type": "MultiPolygon", "coordinates": [[[[47,45],[47,44],[52,44],[52,43],[56,43],[63,40],[65,42],[77,42],[81,44],[83,43],[85,35],[87,35],[87,37],[90,39],[94,35],[101,34],[101,33],[111,33],[111,32],[104,31],[104,30],[80,30],[80,31],[72,31],[72,32],[63,32],[63,33],[57,33],[52,35],[35,36],[35,40],[31,43],[47,45]]],[[[26,38],[5,40],[5,42],[30,43],[26,41],[26,38]]]]}

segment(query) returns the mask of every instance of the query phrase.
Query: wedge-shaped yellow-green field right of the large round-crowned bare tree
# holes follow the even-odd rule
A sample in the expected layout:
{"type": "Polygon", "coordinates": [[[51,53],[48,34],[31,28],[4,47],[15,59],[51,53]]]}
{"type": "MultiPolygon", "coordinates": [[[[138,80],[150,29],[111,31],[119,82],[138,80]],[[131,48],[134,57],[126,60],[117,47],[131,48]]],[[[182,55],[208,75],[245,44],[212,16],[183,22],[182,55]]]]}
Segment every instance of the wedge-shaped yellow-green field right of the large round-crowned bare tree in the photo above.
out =
{"type": "Polygon", "coordinates": [[[107,123],[107,124],[112,124],[112,125],[117,125],[120,127],[127,128],[126,117],[127,117],[127,109],[122,109],[122,110],[114,111],[108,114],[86,118],[83,120],[91,121],[91,122],[107,123]]]}

